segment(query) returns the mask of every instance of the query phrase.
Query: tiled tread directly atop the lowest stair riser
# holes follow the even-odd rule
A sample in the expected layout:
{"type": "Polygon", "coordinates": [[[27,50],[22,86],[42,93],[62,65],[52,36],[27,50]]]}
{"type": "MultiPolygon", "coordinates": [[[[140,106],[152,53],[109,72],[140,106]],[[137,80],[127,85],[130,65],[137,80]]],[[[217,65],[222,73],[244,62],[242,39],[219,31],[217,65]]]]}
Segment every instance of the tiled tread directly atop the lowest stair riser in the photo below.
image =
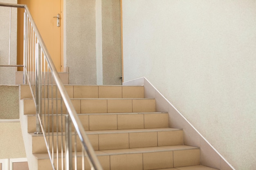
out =
{"type": "MultiPolygon", "coordinates": [[[[113,150],[95,150],[97,156],[106,156],[106,155],[122,155],[122,154],[137,154],[137,153],[149,153],[149,152],[166,152],[166,151],[175,151],[175,150],[193,150],[200,149],[196,146],[188,145],[174,145],[174,146],[155,146],[155,147],[145,147],[145,148],[132,148],[132,149],[113,149],[113,150]]],[[[37,159],[49,159],[48,153],[34,153],[33,154],[37,159]]],[[[82,155],[82,152],[77,152],[77,155],[82,155]]],[[[61,152],[59,152],[61,156],[61,152]]],[[[54,156],[56,157],[56,155],[54,156]]]]}

